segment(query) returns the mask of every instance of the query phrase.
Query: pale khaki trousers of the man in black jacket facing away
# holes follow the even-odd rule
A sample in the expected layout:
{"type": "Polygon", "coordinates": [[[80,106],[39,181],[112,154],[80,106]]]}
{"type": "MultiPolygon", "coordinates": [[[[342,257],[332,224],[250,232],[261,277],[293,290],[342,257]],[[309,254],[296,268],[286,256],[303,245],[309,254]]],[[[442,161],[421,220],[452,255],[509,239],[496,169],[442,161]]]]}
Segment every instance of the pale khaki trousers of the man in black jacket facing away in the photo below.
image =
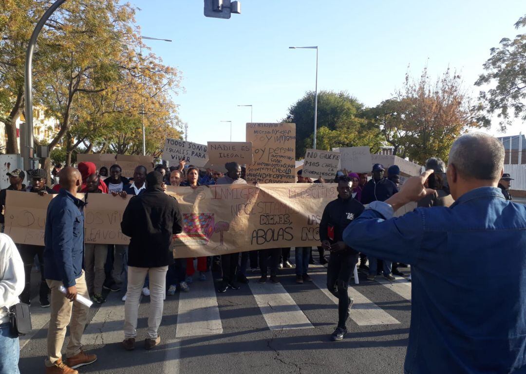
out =
{"type": "Polygon", "coordinates": [[[150,307],[148,310],[148,331],[150,339],[157,338],[157,330],[163,318],[164,296],[166,292],[166,272],[168,266],[135,267],[128,266],[128,288],[126,303],[124,304],[124,337],[137,336],[137,315],[139,311],[139,297],[143,290],[146,274],[150,278],[150,307]]]}

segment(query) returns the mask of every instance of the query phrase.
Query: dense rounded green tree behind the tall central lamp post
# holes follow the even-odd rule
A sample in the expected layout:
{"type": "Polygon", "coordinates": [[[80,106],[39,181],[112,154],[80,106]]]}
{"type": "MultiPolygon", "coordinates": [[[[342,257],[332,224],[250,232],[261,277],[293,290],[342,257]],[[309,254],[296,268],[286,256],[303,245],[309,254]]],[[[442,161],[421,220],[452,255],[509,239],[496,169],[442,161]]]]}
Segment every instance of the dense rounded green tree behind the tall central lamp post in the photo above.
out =
{"type": "MultiPolygon", "coordinates": [[[[305,157],[312,148],[314,124],[314,92],[307,92],[289,108],[285,122],[296,123],[296,158],[305,157]]],[[[317,148],[380,146],[378,128],[363,118],[363,105],[347,92],[318,93],[317,148]]]]}

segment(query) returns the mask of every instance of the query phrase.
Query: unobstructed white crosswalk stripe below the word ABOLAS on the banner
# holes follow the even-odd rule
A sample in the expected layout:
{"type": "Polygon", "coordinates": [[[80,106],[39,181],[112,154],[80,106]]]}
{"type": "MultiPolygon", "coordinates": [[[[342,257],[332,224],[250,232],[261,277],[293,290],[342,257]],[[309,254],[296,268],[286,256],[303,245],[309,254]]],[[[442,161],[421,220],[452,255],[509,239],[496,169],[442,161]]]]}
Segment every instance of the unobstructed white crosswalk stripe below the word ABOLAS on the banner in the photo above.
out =
{"type": "Polygon", "coordinates": [[[261,284],[256,279],[251,278],[248,285],[269,329],[314,328],[285,287],[281,284],[261,284]]]}

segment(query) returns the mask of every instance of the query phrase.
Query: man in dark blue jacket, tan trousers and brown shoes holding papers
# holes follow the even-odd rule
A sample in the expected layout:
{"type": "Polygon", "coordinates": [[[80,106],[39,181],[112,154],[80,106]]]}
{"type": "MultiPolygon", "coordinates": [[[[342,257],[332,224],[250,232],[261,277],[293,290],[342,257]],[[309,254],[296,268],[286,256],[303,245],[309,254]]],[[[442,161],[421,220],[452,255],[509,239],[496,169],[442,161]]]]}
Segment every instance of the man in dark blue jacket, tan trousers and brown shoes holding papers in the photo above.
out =
{"type": "Polygon", "coordinates": [[[59,172],[60,192],[47,207],[44,234],[45,278],[51,289],[51,318],[47,333],[46,373],[77,373],[79,366],[95,362],[97,356],[82,350],[80,339],[88,316],[88,307],[76,301],[77,294],[89,299],[84,279],[84,202],[76,198],[82,186],[77,169],[59,172]],[[66,295],[60,292],[66,289],[66,295]],[[62,345],[69,324],[66,362],[62,345]],[[71,368],[71,369],[70,369],[71,368]]]}

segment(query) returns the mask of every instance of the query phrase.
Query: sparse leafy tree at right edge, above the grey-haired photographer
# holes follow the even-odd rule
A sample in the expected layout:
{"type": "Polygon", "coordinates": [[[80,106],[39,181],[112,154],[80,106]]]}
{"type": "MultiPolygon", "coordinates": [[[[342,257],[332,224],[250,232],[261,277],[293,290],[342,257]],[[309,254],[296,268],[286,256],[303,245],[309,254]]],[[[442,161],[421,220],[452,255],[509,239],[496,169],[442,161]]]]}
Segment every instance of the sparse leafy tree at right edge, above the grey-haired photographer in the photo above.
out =
{"type": "MultiPolygon", "coordinates": [[[[526,26],[526,16],[519,18],[515,28],[526,26]]],[[[489,116],[497,113],[500,127],[506,129],[506,122],[513,117],[526,120],[526,34],[519,34],[513,40],[503,38],[500,47],[491,48],[491,57],[484,63],[484,74],[475,82],[477,86],[492,85],[494,88],[481,91],[481,107],[487,113],[480,120],[489,124],[489,116]]]]}

